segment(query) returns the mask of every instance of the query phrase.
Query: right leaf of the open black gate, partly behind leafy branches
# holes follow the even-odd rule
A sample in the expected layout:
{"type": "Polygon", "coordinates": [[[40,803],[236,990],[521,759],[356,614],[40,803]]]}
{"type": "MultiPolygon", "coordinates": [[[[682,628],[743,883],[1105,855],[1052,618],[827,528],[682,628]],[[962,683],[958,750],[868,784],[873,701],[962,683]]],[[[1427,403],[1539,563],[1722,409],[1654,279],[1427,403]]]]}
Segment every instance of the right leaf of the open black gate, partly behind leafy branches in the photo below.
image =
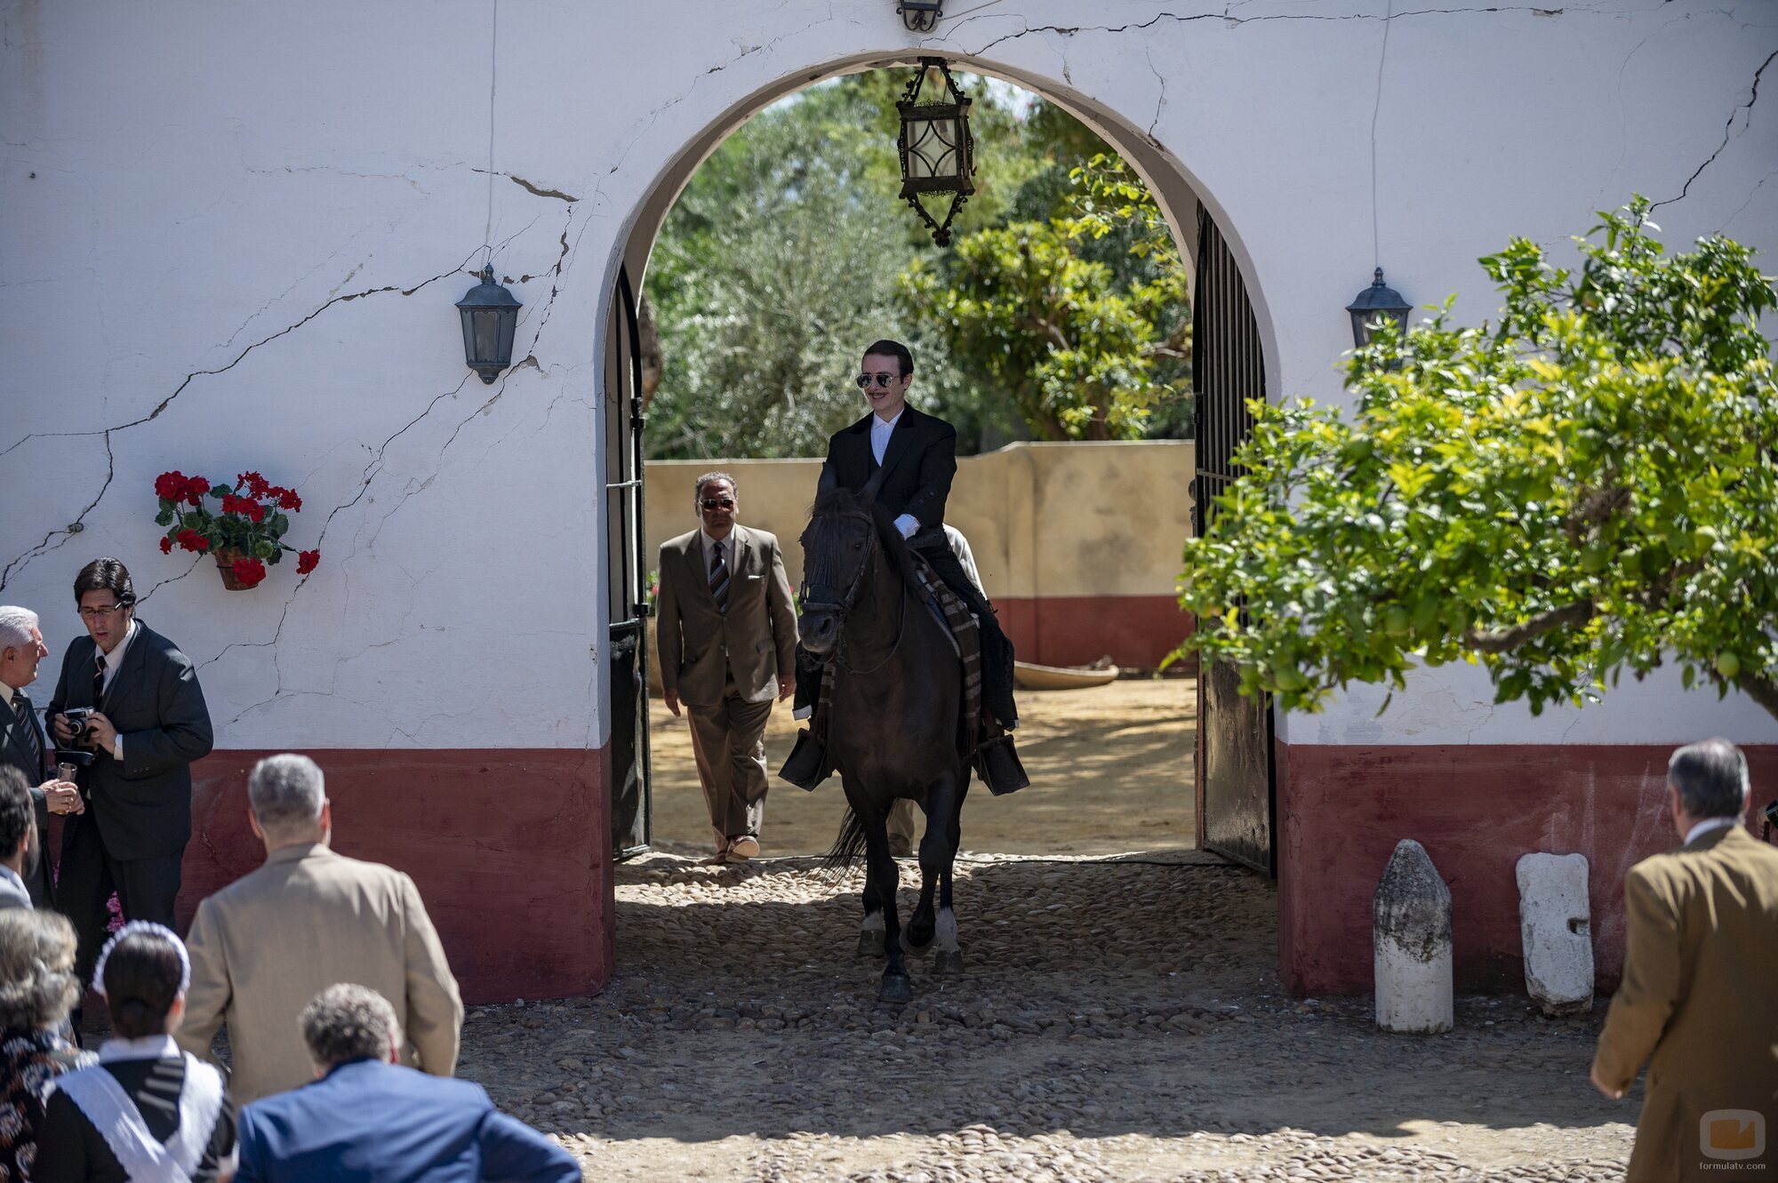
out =
{"type": "MultiPolygon", "coordinates": [[[[1253,433],[1246,400],[1266,396],[1266,361],[1241,268],[1202,208],[1195,286],[1198,471],[1191,492],[1193,529],[1202,536],[1216,512],[1213,499],[1241,476],[1234,451],[1253,433]]],[[[1239,684],[1227,663],[1198,664],[1198,840],[1269,876],[1277,872],[1271,700],[1243,698],[1239,684]]]]}

